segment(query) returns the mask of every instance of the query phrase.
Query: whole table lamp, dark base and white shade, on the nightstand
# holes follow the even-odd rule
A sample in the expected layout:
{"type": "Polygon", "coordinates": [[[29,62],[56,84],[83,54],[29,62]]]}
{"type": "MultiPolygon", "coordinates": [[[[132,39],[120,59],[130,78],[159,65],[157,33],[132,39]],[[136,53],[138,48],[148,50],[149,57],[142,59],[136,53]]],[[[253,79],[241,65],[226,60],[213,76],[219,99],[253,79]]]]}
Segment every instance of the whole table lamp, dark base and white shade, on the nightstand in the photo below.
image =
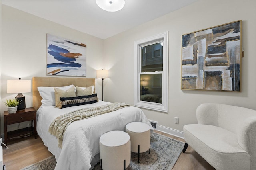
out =
{"type": "Polygon", "coordinates": [[[20,100],[18,105],[18,110],[23,110],[26,108],[25,96],[22,93],[31,92],[31,80],[7,80],[7,93],[18,93],[15,97],[20,100]]]}

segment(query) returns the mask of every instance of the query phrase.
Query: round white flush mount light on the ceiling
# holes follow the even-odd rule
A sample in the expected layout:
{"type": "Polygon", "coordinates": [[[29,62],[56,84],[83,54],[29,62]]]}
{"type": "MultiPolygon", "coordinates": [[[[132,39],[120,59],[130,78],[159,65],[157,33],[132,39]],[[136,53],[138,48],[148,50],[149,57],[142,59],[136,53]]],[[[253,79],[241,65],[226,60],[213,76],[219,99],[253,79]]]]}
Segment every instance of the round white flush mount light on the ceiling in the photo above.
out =
{"type": "Polygon", "coordinates": [[[124,7],[124,0],[96,0],[96,4],[105,11],[115,12],[124,7]]]}

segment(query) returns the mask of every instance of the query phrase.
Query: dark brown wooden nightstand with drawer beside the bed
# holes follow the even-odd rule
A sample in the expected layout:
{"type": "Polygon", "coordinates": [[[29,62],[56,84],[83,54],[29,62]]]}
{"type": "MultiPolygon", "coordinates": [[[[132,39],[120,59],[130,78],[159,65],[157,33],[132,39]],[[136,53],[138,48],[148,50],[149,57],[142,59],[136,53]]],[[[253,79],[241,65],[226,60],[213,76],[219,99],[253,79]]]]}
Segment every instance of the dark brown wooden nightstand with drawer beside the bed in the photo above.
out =
{"type": "Polygon", "coordinates": [[[7,140],[15,137],[26,135],[33,132],[36,139],[36,109],[34,107],[26,108],[24,110],[18,110],[16,113],[9,114],[8,111],[4,111],[4,142],[7,145],[7,140]],[[18,129],[15,131],[7,132],[7,125],[14,123],[20,123],[31,120],[31,127],[18,129]],[[34,120],[34,128],[32,126],[34,120]]]}

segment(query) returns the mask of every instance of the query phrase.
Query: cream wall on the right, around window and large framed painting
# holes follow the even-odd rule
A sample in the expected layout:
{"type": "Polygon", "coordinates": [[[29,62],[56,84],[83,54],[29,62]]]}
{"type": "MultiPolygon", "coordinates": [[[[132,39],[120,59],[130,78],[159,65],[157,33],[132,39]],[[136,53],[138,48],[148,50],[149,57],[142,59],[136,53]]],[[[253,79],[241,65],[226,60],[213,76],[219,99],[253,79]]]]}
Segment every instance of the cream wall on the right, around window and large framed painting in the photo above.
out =
{"type": "Polygon", "coordinates": [[[110,77],[105,81],[104,98],[109,102],[134,104],[134,41],[168,31],[169,111],[166,114],[142,109],[148,119],[158,121],[164,127],[183,131],[184,125],[197,123],[195,111],[201,103],[216,102],[256,109],[255,7],[255,0],[199,0],[104,40],[104,63],[109,69],[110,77]],[[180,90],[181,36],[237,20],[242,20],[244,47],[241,65],[242,92],[180,90]],[[178,125],[174,124],[174,117],[179,117],[178,125]]]}

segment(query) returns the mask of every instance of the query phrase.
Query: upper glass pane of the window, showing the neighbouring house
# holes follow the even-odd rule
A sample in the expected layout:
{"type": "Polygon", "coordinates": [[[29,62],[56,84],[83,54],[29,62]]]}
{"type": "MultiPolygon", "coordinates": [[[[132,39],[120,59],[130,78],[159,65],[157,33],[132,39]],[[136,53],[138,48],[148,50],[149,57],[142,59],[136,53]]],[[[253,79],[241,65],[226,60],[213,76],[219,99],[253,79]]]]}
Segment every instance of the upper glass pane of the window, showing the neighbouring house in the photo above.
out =
{"type": "Polygon", "coordinates": [[[141,72],[163,71],[163,46],[161,43],[141,47],[141,72]]]}

